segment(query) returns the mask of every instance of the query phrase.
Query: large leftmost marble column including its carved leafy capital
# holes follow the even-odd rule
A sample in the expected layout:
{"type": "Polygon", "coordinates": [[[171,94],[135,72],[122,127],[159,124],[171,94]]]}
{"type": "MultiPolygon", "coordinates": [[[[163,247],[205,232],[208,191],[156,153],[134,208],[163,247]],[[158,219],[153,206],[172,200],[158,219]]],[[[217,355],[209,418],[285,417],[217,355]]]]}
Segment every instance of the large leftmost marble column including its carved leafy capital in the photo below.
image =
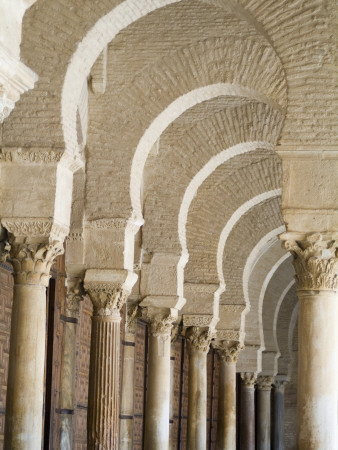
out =
{"type": "MultiPolygon", "coordinates": [[[[44,224],[48,229],[48,222],[44,224]]],[[[27,236],[22,236],[20,223],[16,224],[19,237],[10,236],[14,296],[4,442],[8,450],[41,448],[46,287],[52,262],[63,253],[63,239],[42,239],[37,236],[41,228],[31,222],[24,225],[27,236]]]]}

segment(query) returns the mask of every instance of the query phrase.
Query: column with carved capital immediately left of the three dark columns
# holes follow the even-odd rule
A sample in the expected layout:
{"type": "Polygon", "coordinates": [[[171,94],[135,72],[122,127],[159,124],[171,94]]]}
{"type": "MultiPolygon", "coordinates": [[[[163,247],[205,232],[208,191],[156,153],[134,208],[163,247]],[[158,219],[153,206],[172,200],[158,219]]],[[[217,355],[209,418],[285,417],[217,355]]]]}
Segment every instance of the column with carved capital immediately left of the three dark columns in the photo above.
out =
{"type": "Polygon", "coordinates": [[[216,341],[219,357],[217,449],[236,449],[236,363],[241,344],[216,341]]]}

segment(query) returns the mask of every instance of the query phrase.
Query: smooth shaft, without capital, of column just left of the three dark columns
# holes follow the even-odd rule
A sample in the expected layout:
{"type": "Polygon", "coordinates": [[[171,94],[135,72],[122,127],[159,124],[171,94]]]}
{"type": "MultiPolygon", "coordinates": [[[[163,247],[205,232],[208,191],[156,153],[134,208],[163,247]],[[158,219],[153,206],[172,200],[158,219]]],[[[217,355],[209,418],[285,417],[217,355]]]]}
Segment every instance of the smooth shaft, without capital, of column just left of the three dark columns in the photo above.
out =
{"type": "Polygon", "coordinates": [[[236,449],[236,363],[220,358],[217,450],[236,449]]]}

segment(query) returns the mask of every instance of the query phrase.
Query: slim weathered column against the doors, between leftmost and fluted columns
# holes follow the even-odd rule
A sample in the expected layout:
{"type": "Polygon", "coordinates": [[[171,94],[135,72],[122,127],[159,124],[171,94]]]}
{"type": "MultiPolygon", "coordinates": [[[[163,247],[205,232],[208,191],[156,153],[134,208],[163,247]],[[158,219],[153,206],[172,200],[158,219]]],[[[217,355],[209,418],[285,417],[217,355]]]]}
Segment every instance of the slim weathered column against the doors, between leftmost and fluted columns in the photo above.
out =
{"type": "Polygon", "coordinates": [[[83,299],[82,280],[67,278],[64,343],[60,386],[60,449],[74,447],[76,329],[80,302],[83,299]]]}

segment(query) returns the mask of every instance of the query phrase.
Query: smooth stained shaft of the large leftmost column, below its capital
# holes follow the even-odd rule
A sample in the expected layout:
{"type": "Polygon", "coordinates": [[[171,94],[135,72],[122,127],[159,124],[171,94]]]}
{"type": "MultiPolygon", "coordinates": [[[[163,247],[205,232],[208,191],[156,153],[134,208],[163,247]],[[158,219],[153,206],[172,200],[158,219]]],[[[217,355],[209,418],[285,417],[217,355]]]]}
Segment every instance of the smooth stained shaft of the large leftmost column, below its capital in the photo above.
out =
{"type": "Polygon", "coordinates": [[[15,284],[5,420],[8,450],[41,448],[45,336],[45,286],[15,284]]]}

